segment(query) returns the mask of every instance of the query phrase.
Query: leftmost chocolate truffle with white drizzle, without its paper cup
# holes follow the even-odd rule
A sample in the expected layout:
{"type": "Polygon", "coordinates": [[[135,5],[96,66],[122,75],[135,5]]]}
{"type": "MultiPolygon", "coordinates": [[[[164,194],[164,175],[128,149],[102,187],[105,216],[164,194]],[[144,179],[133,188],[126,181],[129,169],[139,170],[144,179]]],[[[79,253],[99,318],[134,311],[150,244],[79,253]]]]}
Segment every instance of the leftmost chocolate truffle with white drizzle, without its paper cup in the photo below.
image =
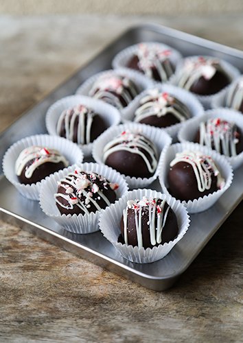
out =
{"type": "Polygon", "coordinates": [[[31,146],[24,149],[17,158],[15,172],[19,182],[31,185],[67,166],[68,161],[58,150],[31,146]]]}

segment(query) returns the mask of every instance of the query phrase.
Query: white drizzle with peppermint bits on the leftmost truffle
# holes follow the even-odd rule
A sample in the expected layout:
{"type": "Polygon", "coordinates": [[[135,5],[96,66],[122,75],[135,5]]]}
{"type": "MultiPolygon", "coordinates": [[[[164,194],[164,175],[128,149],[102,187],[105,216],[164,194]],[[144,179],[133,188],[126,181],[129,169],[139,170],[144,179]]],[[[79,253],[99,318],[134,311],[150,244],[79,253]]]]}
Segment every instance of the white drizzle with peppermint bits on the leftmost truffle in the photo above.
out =
{"type": "Polygon", "coordinates": [[[40,147],[33,145],[26,147],[15,163],[15,172],[17,176],[20,176],[23,168],[25,167],[25,178],[31,178],[36,168],[43,163],[60,163],[62,162],[65,167],[69,165],[64,156],[58,152],[58,150],[50,149],[49,147],[40,147]],[[32,163],[30,163],[32,161],[32,163]],[[30,165],[27,165],[30,163],[30,165]]]}

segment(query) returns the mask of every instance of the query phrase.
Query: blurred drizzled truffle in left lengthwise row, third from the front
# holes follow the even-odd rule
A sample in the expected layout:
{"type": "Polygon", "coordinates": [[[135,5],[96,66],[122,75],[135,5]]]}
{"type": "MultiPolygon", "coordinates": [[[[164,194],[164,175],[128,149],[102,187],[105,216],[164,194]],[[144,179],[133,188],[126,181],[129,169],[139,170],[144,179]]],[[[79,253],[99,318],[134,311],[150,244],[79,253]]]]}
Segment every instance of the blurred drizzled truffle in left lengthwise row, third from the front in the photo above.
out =
{"type": "Polygon", "coordinates": [[[89,91],[89,96],[101,99],[122,110],[138,93],[137,85],[130,78],[114,73],[97,78],[89,91]]]}

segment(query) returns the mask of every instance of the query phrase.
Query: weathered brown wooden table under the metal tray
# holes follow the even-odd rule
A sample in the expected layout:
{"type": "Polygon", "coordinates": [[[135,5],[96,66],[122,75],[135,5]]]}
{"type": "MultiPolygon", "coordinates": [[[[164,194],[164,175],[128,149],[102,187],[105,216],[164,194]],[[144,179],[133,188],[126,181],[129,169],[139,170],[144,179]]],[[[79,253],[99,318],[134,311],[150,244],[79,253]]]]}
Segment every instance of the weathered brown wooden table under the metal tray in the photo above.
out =
{"type": "MultiPolygon", "coordinates": [[[[126,27],[144,22],[243,49],[242,14],[1,16],[0,130],[126,27]]],[[[243,342],[242,211],[243,203],[160,293],[0,221],[0,342],[243,342]]]]}

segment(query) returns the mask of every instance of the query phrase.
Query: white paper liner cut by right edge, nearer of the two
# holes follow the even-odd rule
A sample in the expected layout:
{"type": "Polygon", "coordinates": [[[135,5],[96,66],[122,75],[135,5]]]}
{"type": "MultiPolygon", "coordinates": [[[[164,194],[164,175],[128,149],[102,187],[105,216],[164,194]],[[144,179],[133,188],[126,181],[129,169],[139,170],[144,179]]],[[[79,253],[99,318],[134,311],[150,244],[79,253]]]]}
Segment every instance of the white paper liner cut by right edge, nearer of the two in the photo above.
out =
{"type": "MultiPolygon", "coordinates": [[[[180,142],[193,142],[194,138],[196,136],[196,132],[198,132],[200,123],[202,121],[207,121],[210,118],[220,118],[227,121],[234,122],[238,128],[240,128],[242,134],[243,134],[243,115],[242,113],[231,110],[228,108],[216,108],[215,110],[207,110],[205,112],[205,115],[196,117],[195,119],[192,119],[190,121],[187,121],[181,128],[181,130],[178,132],[178,140],[180,142]]],[[[233,169],[236,169],[240,167],[243,163],[243,152],[238,154],[237,156],[225,156],[229,163],[231,163],[233,169]]]]}

